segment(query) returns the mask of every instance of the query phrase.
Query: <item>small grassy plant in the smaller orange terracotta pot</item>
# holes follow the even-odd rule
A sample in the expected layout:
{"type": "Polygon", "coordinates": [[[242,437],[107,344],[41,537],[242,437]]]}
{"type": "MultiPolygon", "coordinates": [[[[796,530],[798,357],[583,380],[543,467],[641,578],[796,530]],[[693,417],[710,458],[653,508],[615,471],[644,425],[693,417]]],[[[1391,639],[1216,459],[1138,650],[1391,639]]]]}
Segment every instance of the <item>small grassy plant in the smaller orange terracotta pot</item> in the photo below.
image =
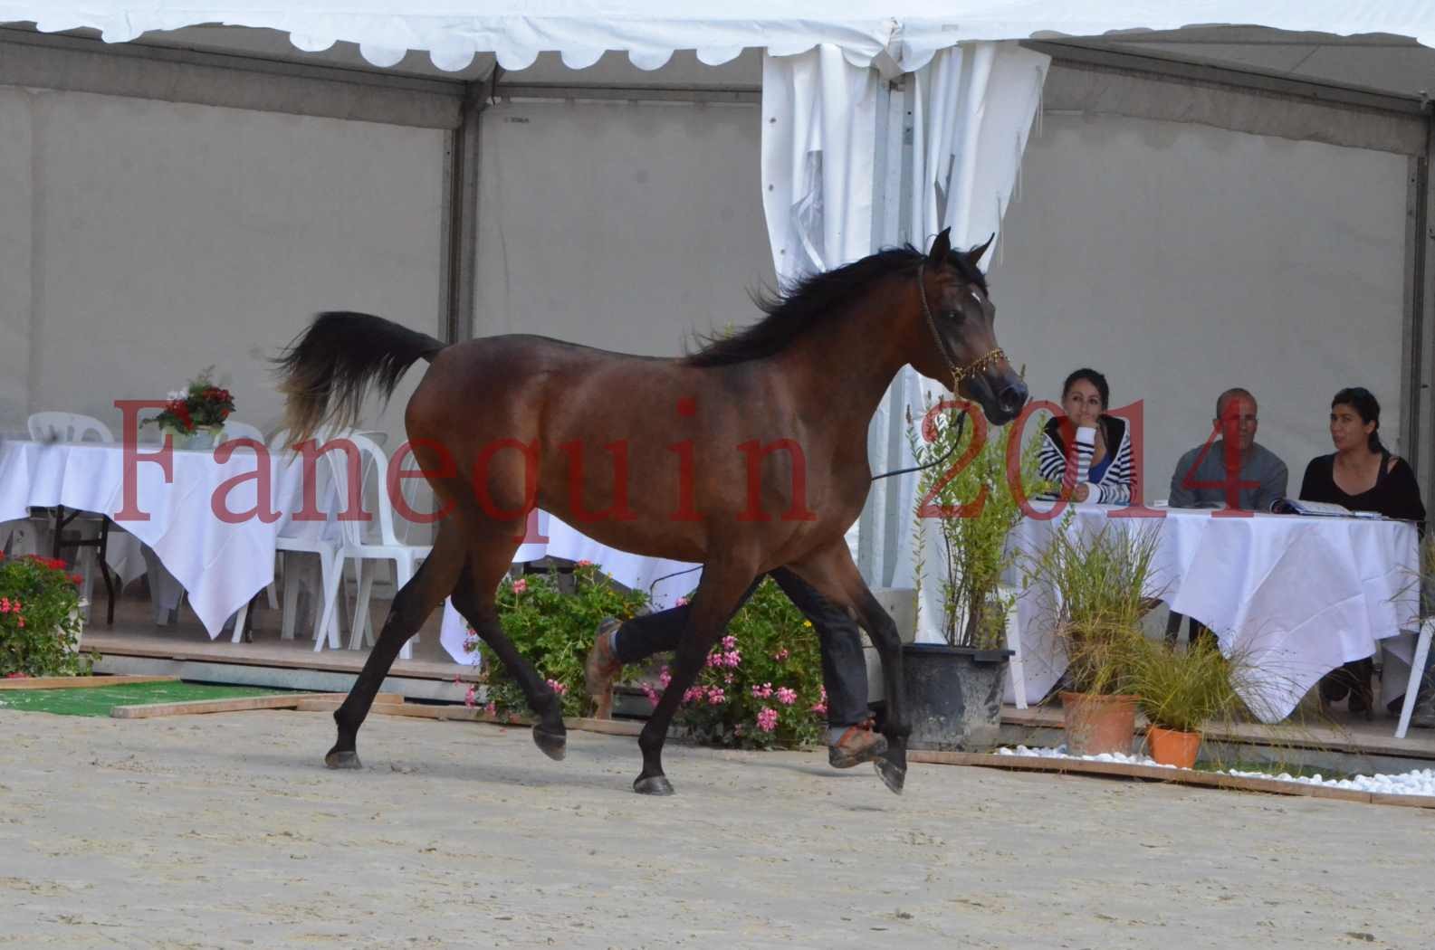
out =
{"type": "Polygon", "coordinates": [[[1198,637],[1184,652],[1164,641],[1142,641],[1131,682],[1151,723],[1147,746],[1152,759],[1182,769],[1195,765],[1201,728],[1211,719],[1234,718],[1241,706],[1231,682],[1236,667],[1213,637],[1198,637]]]}

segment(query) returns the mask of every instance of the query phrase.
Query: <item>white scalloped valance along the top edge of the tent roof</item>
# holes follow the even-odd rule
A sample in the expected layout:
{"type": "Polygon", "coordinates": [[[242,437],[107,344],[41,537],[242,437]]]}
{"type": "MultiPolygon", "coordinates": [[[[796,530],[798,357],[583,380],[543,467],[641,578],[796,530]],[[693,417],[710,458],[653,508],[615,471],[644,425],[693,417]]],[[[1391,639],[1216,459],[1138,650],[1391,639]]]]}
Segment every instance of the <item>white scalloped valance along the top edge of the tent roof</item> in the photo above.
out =
{"type": "Polygon", "coordinates": [[[1349,0],[0,0],[0,23],[34,23],[46,33],[93,29],[110,43],[149,32],[222,24],[278,30],[300,50],[356,43],[375,66],[426,52],[445,72],[494,53],[508,70],[557,52],[573,69],[606,52],[626,52],[634,66],[662,67],[676,50],[696,50],[716,66],[743,49],[795,56],[835,46],[854,66],[884,72],[921,69],[941,49],[977,40],[1043,34],[1101,36],[1114,30],[1171,30],[1194,24],[1254,24],[1336,36],[1386,33],[1435,42],[1435,0],[1350,4],[1349,0]],[[475,7],[479,9],[475,13],[475,7]]]}

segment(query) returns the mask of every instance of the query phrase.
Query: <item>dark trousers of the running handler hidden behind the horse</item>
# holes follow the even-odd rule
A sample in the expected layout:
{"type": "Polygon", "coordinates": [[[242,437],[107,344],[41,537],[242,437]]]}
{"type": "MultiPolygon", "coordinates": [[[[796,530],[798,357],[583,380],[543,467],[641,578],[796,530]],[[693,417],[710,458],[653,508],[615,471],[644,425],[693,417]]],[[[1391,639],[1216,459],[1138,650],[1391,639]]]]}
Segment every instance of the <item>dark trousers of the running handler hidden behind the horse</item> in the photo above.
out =
{"type": "MultiPolygon", "coordinates": [[[[857,621],[845,610],[822,597],[808,583],[786,568],[771,573],[798,610],[812,621],[822,652],[822,685],[827,687],[827,722],[850,726],[867,719],[867,660],[857,621]]],[[[746,604],[762,583],[759,577],[742,596],[746,604]]],[[[739,610],[742,604],[739,604],[739,610]]],[[[654,653],[672,653],[687,629],[687,604],[660,613],[633,617],[618,629],[617,656],[639,663],[654,653]]]]}

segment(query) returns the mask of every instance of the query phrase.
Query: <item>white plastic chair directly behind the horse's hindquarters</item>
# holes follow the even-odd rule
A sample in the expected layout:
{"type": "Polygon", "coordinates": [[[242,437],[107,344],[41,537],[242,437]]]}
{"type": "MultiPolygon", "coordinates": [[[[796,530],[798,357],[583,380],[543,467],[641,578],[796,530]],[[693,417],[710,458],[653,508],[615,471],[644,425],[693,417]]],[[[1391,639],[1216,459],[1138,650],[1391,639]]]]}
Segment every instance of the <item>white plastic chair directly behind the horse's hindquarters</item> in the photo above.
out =
{"type": "MultiPolygon", "coordinates": [[[[360,458],[360,495],[357,501],[363,501],[369,497],[366,491],[370,484],[370,475],[373,476],[373,485],[377,489],[375,492],[375,509],[377,514],[375,530],[375,521],[353,521],[340,519],[340,534],[343,537],[343,545],[340,548],[342,564],[353,560],[354,573],[359,578],[359,596],[354,604],[353,627],[349,639],[349,649],[359,650],[364,643],[373,643],[372,621],[369,617],[369,598],[373,593],[373,570],[364,568],[364,561],[392,561],[393,563],[393,583],[395,593],[403,588],[418,570],[419,561],[429,555],[432,545],[426,544],[408,544],[402,541],[393,530],[393,499],[389,498],[387,488],[387,472],[389,459],[383,453],[383,449],[375,443],[366,435],[357,432],[350,432],[347,436],[354,448],[359,449],[360,458]],[[367,530],[366,530],[367,525],[367,530]]],[[[337,497],[337,509],[347,511],[350,508],[350,484],[346,471],[347,453],[346,452],[330,452],[327,455],[330,462],[330,476],[334,485],[334,494],[337,497]]],[[[366,512],[373,517],[375,511],[364,508],[366,512]]],[[[339,573],[342,577],[342,571],[339,573]]],[[[330,606],[331,610],[331,606],[330,606]]],[[[413,656],[413,643],[418,640],[418,634],[405,641],[403,647],[399,650],[399,656],[405,660],[413,656]]]]}

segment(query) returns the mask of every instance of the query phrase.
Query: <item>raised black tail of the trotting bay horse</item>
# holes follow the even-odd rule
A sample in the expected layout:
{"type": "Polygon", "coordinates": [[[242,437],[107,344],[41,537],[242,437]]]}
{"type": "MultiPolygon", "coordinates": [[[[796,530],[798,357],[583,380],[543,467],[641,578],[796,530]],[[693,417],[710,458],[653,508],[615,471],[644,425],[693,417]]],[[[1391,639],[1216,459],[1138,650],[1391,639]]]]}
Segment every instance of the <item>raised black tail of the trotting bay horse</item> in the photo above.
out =
{"type": "Polygon", "coordinates": [[[366,313],[321,313],[273,362],[281,375],[288,443],[310,439],[324,423],[359,420],[364,395],[377,382],[387,403],[405,370],[446,344],[366,313]]]}

